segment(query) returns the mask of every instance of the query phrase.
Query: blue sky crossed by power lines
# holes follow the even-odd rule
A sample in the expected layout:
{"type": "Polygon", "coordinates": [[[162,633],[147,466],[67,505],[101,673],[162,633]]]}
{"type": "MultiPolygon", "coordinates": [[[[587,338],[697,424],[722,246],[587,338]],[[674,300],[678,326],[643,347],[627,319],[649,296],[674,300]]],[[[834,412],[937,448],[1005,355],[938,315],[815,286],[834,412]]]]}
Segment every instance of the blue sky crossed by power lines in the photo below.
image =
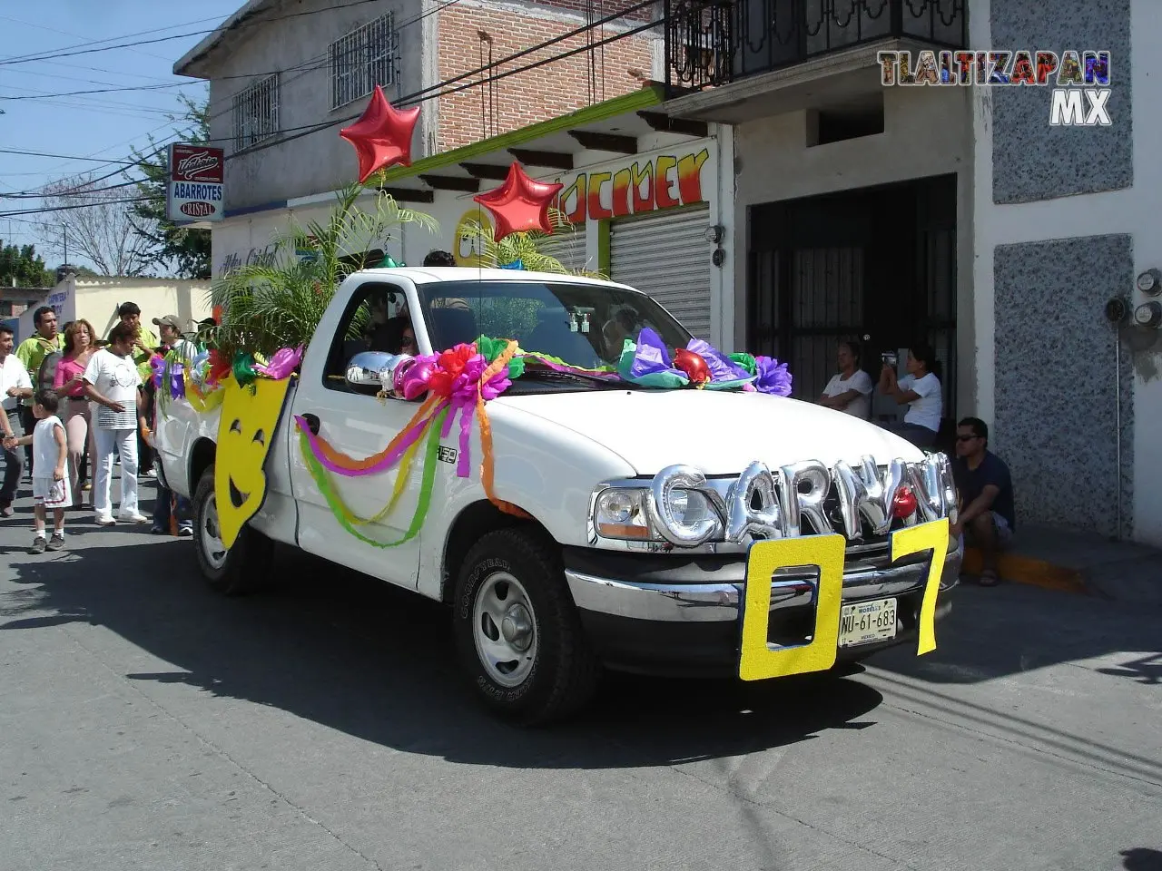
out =
{"type": "MultiPolygon", "coordinates": [[[[6,199],[35,192],[79,172],[105,175],[117,168],[101,160],[131,159],[132,149],[171,141],[170,114],[181,115],[178,94],[205,99],[206,82],[173,74],[173,63],[244,0],[199,3],[158,0],[0,0],[0,150],[38,151],[93,160],[12,154],[0,151],[0,213],[36,208],[35,199],[6,199]],[[149,30],[151,33],[142,33],[149,30]],[[178,38],[167,38],[178,37],[178,38]],[[142,44],[145,41],[149,44],[142,44]],[[135,43],[132,48],[87,49],[135,43]],[[63,56],[66,52],[67,57],[63,56]],[[10,63],[51,52],[44,60],[10,63]],[[177,85],[149,91],[49,96],[67,91],[177,85]],[[30,99],[13,99],[30,98],[30,99]]],[[[120,175],[109,183],[122,181],[120,175]]],[[[35,244],[51,267],[60,264],[59,236],[41,238],[34,219],[0,217],[6,243],[35,244]]],[[[88,265],[70,251],[71,262],[88,265]]]]}

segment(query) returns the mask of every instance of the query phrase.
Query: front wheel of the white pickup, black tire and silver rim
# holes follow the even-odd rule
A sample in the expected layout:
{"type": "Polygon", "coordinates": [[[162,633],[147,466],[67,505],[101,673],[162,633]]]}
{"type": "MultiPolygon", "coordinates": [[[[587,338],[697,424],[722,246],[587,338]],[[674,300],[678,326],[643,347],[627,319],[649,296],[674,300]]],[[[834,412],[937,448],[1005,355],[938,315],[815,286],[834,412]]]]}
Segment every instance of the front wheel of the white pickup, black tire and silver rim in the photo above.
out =
{"type": "Polygon", "coordinates": [[[525,726],[562,720],[597,689],[601,667],[555,545],[525,530],[483,535],[460,568],[454,634],[461,663],[494,712],[525,726]]]}

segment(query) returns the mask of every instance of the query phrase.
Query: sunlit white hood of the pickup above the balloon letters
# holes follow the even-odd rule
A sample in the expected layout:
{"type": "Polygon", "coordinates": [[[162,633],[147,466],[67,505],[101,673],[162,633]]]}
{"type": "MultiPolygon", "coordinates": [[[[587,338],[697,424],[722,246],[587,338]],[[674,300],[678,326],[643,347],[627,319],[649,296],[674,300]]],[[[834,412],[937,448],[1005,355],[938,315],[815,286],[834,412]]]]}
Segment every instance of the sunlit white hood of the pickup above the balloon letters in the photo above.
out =
{"type": "MultiPolygon", "coordinates": [[[[540,417],[604,445],[639,475],[686,463],[704,475],[737,475],[754,460],[878,463],[924,459],[874,424],[797,399],[717,390],[593,390],[501,396],[490,403],[540,417]]],[[[502,412],[503,413],[503,412],[502,412]]]]}

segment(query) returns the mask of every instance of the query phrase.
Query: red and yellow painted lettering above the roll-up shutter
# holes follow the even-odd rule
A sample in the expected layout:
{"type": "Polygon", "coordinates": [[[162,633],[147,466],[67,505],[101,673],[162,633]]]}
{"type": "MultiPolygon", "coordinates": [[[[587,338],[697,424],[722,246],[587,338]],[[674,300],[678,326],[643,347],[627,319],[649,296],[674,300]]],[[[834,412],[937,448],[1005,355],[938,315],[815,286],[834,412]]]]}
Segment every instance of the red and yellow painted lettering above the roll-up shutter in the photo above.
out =
{"type": "Polygon", "coordinates": [[[703,146],[557,180],[565,185],[557,208],[580,224],[703,202],[704,192],[713,189],[713,161],[703,146]]]}

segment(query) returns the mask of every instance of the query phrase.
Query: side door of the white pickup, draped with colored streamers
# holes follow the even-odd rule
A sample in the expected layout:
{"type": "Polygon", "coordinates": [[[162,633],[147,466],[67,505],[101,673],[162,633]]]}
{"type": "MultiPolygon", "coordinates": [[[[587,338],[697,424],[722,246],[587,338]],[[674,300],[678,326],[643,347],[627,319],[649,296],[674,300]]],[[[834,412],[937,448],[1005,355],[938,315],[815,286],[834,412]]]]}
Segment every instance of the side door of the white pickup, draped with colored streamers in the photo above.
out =
{"type": "MultiPolygon", "coordinates": [[[[292,413],[317,426],[317,436],[347,456],[363,459],[382,451],[418,411],[418,402],[381,401],[376,389],[354,387],[346,381],[347,362],[360,351],[368,350],[367,336],[375,331],[387,301],[388,317],[399,316],[404,304],[417,310],[415,289],[403,283],[374,281],[359,285],[344,305],[340,288],[331,308],[320,323],[310,351],[303,359],[302,377],[292,403],[292,413]]],[[[390,331],[386,331],[390,333],[390,331]]],[[[387,350],[387,348],[375,348],[387,350]]],[[[393,351],[397,351],[394,350],[393,351]]],[[[409,348],[408,353],[418,353],[409,348]]],[[[336,519],[335,508],[320,490],[300,448],[299,430],[290,425],[290,476],[299,504],[299,546],[323,559],[357,571],[414,588],[419,570],[419,539],[394,547],[407,533],[419,495],[419,468],[413,469],[407,490],[389,516],[375,523],[357,523],[360,535],[379,545],[367,544],[349,532],[336,519]]],[[[325,473],[332,499],[340,499],[350,514],[374,518],[392,498],[399,466],[389,472],[347,477],[325,473]]]]}

